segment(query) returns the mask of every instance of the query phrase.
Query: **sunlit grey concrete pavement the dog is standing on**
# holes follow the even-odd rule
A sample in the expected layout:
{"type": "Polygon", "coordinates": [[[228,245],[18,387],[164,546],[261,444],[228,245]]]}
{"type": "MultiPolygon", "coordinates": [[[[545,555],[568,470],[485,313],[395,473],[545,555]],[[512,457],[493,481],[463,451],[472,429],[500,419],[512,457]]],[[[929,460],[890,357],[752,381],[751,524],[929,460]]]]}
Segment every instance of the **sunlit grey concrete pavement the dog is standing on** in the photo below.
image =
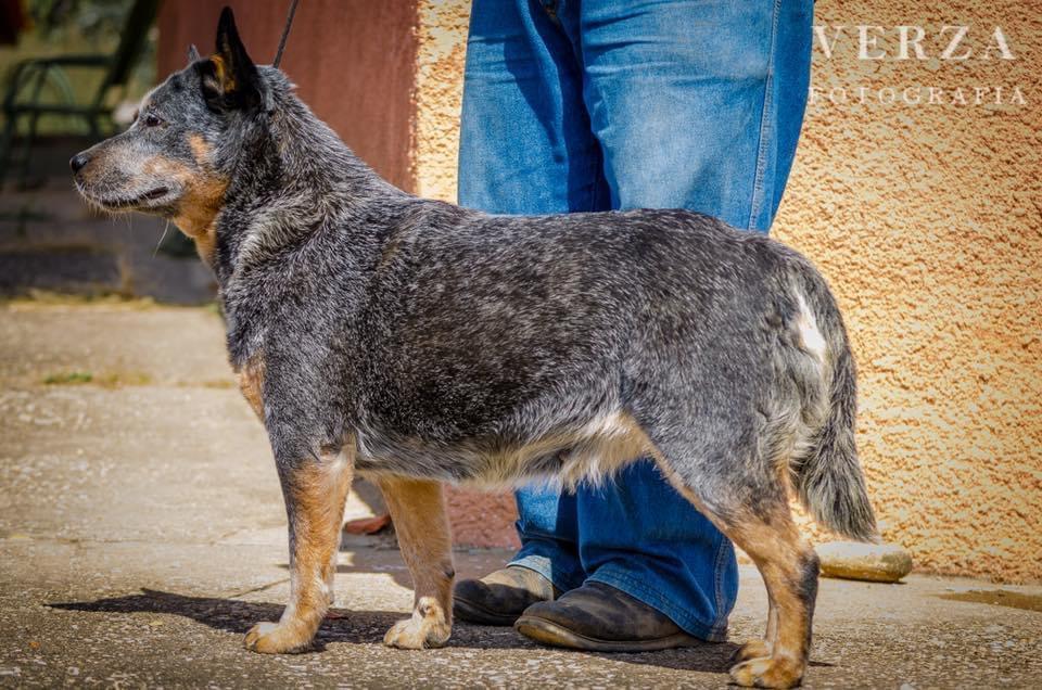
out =
{"type": "MultiPolygon", "coordinates": [[[[735,643],[650,654],[539,648],[457,625],[442,650],[384,648],[411,592],[387,537],[341,553],[316,650],[242,636],[288,593],[284,512],[213,310],[0,306],[0,685],[21,687],[716,688],[735,643]],[[46,383],[49,382],[49,383],[46,383]]],[[[506,553],[460,551],[466,577],[506,553]]],[[[742,568],[730,638],[766,601],[742,568]]],[[[913,575],[823,579],[806,686],[1038,687],[1042,588],[913,575]]]]}

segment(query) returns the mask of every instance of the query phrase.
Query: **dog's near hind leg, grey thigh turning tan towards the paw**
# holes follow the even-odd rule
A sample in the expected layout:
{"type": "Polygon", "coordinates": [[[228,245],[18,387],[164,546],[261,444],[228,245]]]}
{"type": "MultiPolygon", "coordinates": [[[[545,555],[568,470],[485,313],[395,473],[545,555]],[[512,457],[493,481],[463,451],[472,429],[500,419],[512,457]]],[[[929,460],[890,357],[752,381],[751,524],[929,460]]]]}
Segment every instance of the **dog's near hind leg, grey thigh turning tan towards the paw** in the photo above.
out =
{"type": "MultiPolygon", "coordinates": [[[[818,563],[792,521],[785,489],[778,477],[766,471],[752,478],[745,472],[732,474],[726,470],[726,476],[713,476],[698,464],[677,467],[669,453],[684,452],[683,446],[659,446],[659,463],[670,482],[749,554],[767,588],[771,611],[766,636],[739,650],[739,663],[730,668],[732,678],[738,685],[758,688],[800,685],[810,654],[818,563]]],[[[753,469],[755,462],[742,463],[737,458],[733,462],[722,460],[713,467],[717,471],[742,468],[759,474],[753,469]]]]}

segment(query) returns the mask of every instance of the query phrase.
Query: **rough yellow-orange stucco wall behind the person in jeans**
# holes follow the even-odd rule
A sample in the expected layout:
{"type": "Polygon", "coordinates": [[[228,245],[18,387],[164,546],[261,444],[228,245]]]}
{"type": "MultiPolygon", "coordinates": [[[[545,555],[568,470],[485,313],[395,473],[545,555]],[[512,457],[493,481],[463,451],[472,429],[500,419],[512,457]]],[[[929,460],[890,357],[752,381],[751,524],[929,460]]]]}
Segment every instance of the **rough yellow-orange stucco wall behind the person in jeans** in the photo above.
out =
{"type": "MultiPolygon", "coordinates": [[[[412,165],[420,193],[446,200],[468,11],[419,3],[412,165]]],[[[817,95],[773,232],[846,314],[884,536],[920,570],[1042,579],[1042,3],[826,1],[815,24],[831,53],[815,41],[817,95]],[[864,56],[859,25],[879,27],[864,56]],[[899,59],[899,26],[922,27],[924,59],[912,44],[899,59]],[[944,26],[968,27],[948,56],[962,29],[944,26]]],[[[468,496],[456,519],[485,525],[478,542],[513,539],[493,528],[508,498],[468,496]]]]}

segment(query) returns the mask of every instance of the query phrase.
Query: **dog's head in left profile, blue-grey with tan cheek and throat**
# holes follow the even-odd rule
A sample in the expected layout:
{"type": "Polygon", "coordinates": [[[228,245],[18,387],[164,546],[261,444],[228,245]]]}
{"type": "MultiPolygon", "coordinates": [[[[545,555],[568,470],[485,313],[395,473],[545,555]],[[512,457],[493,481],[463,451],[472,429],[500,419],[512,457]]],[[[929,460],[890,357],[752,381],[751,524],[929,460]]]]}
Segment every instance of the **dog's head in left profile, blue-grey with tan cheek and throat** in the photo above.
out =
{"type": "Polygon", "coordinates": [[[129,129],[73,156],[76,188],[106,210],[158,215],[212,242],[236,162],[270,102],[225,8],[213,55],[192,47],[189,65],[144,97],[129,129]]]}

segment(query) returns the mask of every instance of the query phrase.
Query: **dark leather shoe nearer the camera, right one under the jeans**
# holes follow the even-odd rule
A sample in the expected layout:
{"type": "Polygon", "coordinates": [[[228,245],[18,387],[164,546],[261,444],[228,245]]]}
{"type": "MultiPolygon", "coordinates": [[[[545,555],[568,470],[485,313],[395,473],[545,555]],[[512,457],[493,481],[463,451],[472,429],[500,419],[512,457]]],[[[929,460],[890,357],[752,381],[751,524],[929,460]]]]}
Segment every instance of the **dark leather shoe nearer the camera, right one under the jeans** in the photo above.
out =
{"type": "Polygon", "coordinates": [[[557,601],[532,604],[513,627],[536,642],[594,652],[650,652],[703,643],[665,614],[601,583],[586,583],[557,601]]]}

